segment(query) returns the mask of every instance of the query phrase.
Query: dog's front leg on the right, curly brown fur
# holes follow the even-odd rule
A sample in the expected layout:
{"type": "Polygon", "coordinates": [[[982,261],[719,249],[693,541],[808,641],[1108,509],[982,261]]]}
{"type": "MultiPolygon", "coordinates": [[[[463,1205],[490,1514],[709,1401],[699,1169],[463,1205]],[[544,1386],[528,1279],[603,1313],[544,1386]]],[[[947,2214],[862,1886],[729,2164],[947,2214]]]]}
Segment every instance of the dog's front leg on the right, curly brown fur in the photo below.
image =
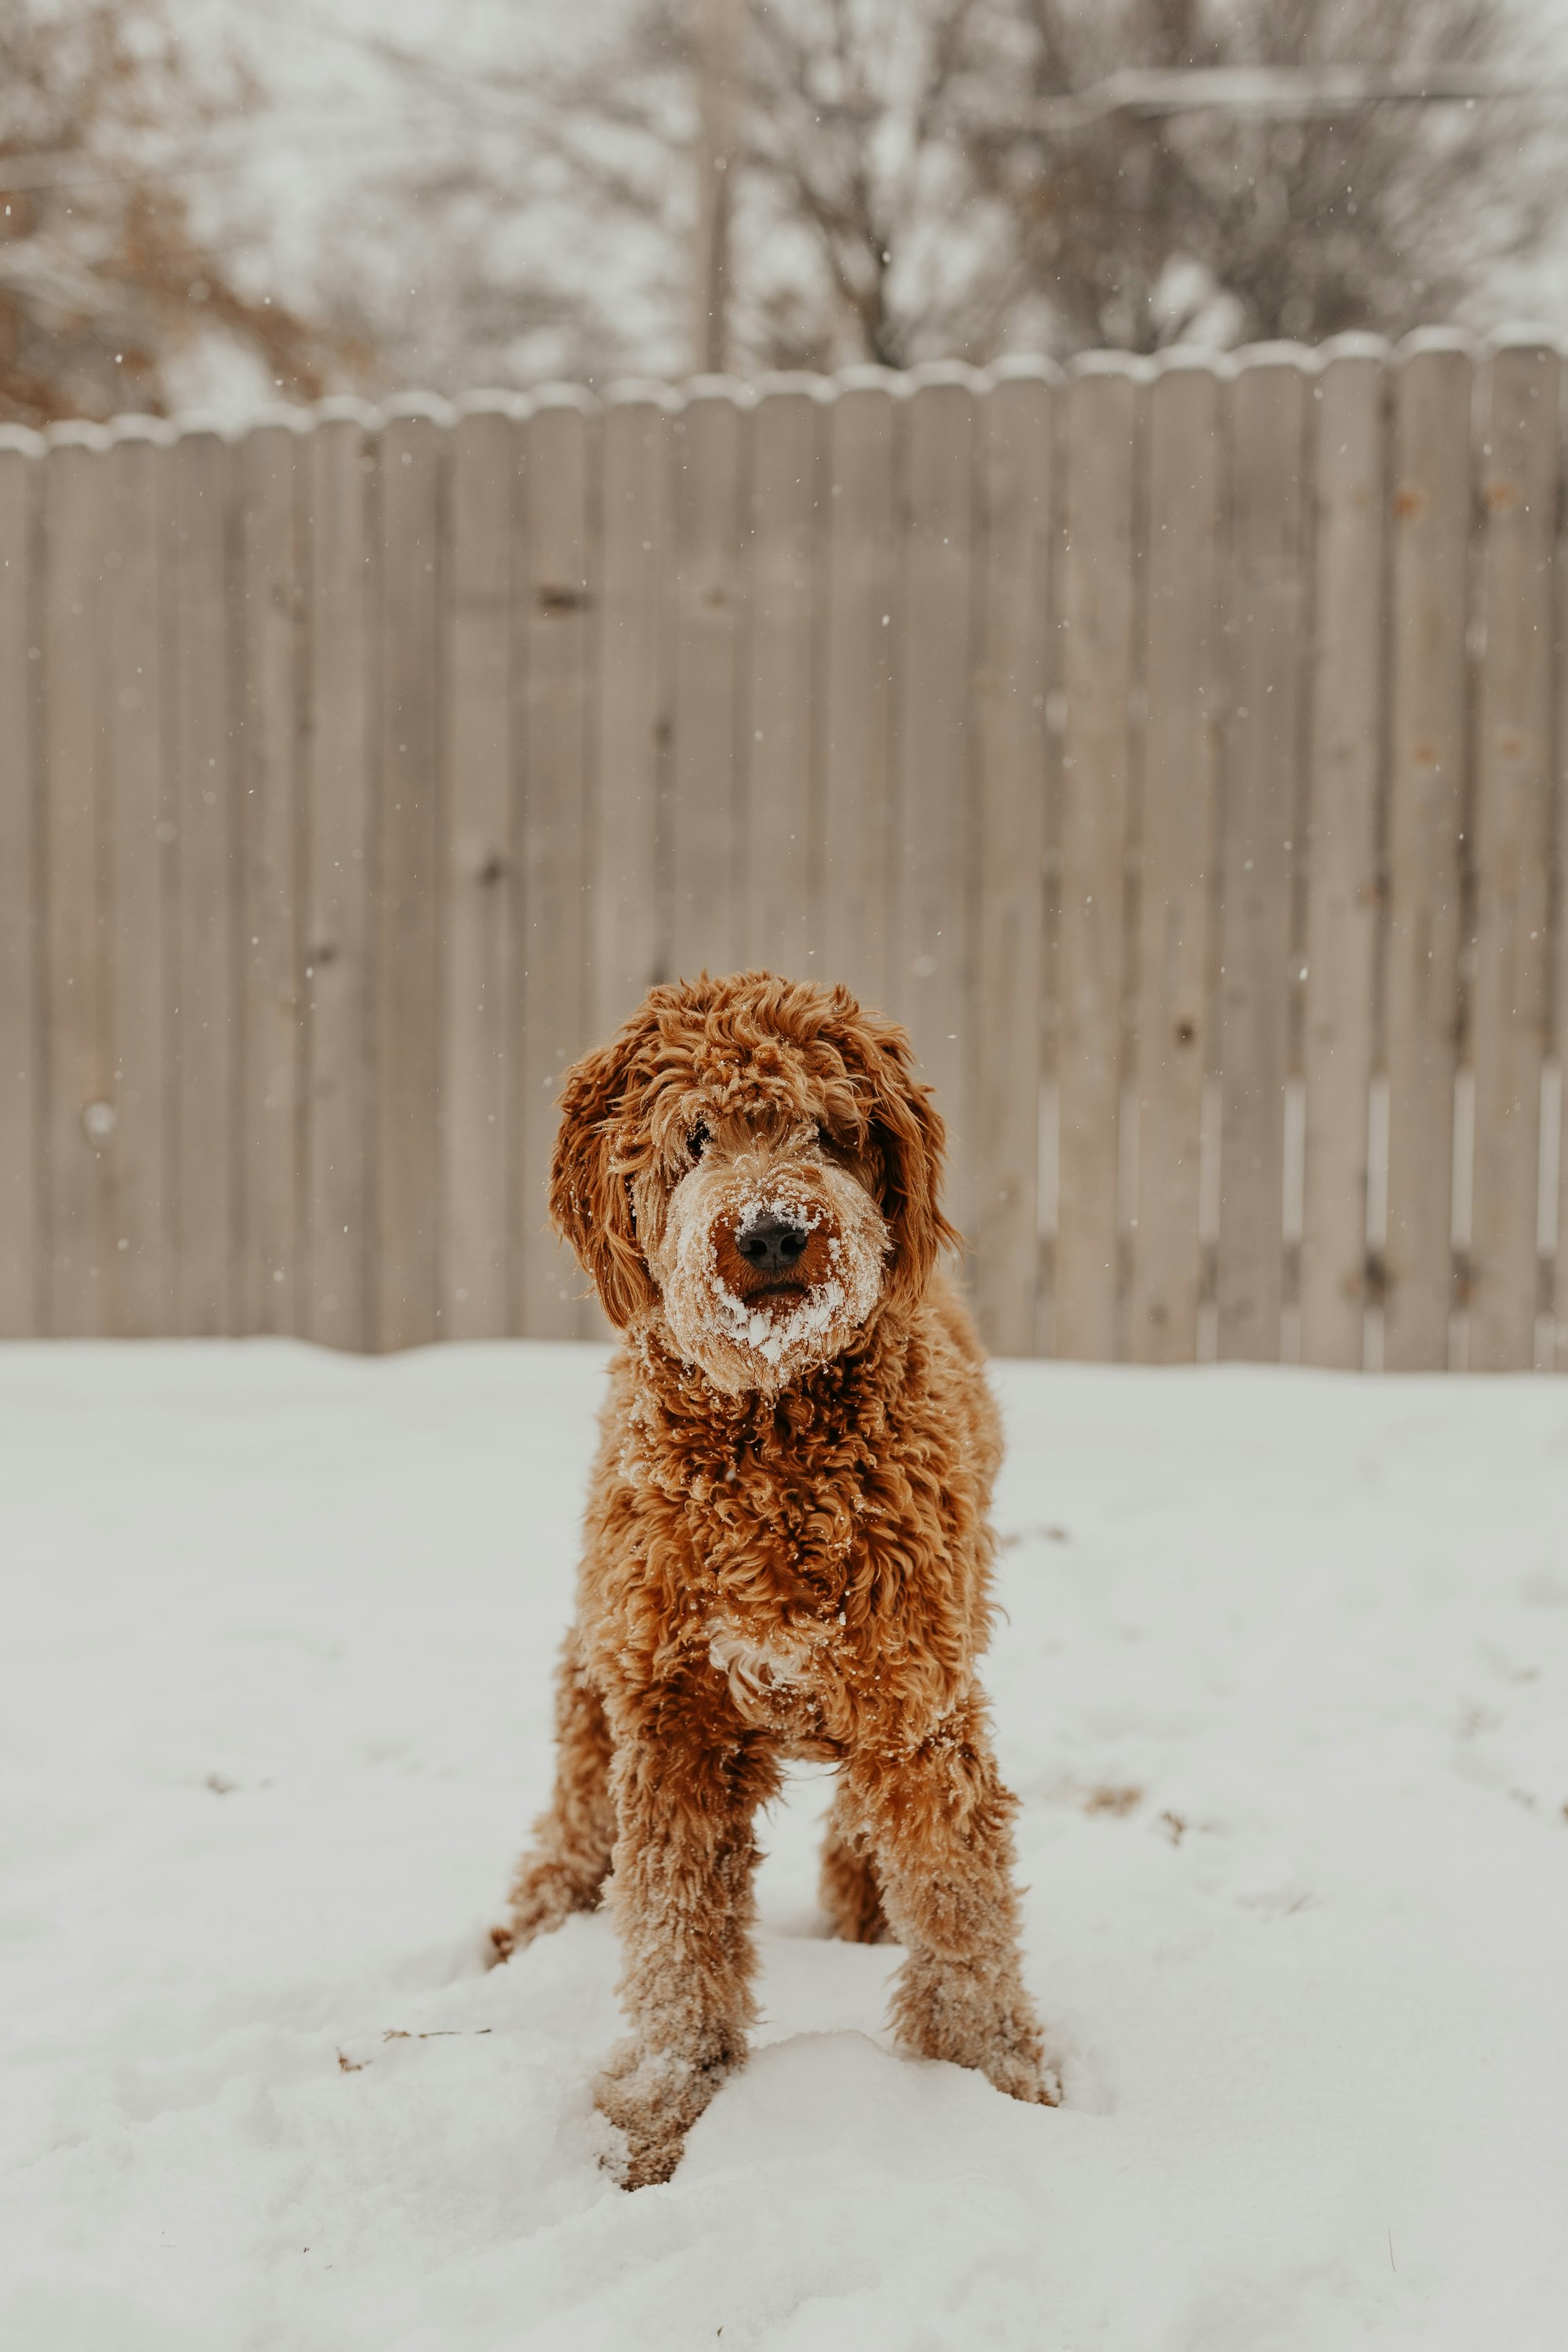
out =
{"type": "Polygon", "coordinates": [[[889,1926],[910,1947],[893,1985],[900,2042],[978,2067],[1011,2098],[1056,2105],[1018,1959],[1018,1799],[1001,1785],[980,1700],[917,1748],[853,1757],[849,1799],[877,1853],[889,1926]]]}

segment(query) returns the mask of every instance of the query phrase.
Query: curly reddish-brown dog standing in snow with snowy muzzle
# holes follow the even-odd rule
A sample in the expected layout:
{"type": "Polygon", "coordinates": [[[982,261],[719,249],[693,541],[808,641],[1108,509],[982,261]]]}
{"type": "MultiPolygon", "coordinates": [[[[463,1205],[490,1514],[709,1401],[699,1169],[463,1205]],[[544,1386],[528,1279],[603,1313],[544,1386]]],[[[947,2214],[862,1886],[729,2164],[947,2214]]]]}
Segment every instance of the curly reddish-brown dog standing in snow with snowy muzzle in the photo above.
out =
{"type": "Polygon", "coordinates": [[[567,1077],[550,1214],[623,1331],[592,1472],[557,1780],[496,1955],[609,1877],[632,2037],[599,2077],[628,2187],[745,2058],[752,1820],[839,1766],[823,1903],[907,1947],[900,2039],[1053,2103],[1018,1966],[1016,1799],[976,1661],[1001,1456],[938,1277],[943,1122],[844,988],[656,988],[567,1077]]]}

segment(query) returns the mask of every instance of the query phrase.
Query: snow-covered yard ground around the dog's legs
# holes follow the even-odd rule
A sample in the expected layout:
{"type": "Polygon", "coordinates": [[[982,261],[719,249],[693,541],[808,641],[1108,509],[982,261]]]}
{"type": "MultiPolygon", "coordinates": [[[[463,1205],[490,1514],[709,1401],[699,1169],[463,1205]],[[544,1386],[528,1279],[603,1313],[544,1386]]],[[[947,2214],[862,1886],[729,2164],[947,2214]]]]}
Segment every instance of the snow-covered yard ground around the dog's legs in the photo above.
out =
{"type": "Polygon", "coordinates": [[[602,1357],[0,1350],[0,2343],[1342,2352],[1568,2321],[1568,1383],[999,1367],[990,1661],[1067,2105],[882,2032],[595,2169],[609,1922],[480,1969],[602,1357]]]}

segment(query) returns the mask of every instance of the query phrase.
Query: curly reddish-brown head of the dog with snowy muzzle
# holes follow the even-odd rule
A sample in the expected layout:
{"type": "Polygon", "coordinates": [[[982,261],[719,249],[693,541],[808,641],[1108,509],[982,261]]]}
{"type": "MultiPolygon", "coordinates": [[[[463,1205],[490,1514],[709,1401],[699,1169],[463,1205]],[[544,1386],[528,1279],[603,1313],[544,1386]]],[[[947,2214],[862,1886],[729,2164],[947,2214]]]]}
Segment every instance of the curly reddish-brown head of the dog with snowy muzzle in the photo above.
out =
{"type": "Polygon", "coordinates": [[[788,1388],[957,1235],[943,1122],[896,1023],[743,971],[654,988],[562,1091],[550,1216],[616,1324],[663,1315],[731,1395],[788,1388]]]}

